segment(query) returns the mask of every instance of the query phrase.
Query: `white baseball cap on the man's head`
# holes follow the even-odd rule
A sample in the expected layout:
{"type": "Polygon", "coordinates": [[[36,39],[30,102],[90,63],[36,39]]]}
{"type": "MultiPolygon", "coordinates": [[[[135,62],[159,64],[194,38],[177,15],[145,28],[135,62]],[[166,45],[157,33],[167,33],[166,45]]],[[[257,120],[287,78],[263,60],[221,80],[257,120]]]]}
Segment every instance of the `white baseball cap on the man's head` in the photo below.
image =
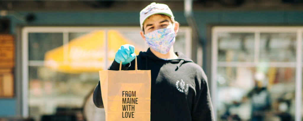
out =
{"type": "Polygon", "coordinates": [[[174,21],[174,15],[167,5],[153,2],[140,11],[140,26],[142,30],[145,19],[155,14],[168,15],[174,21]]]}

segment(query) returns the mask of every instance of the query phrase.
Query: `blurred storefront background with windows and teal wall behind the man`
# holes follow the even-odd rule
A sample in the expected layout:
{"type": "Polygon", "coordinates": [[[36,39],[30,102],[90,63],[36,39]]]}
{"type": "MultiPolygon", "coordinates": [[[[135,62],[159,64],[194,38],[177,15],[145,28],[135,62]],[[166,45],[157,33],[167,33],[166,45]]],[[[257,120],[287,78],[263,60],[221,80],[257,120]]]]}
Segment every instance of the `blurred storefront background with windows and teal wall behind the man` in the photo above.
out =
{"type": "Polygon", "coordinates": [[[218,121],[301,121],[303,0],[2,0],[0,121],[102,121],[92,92],[139,12],[167,4],[218,121]]]}

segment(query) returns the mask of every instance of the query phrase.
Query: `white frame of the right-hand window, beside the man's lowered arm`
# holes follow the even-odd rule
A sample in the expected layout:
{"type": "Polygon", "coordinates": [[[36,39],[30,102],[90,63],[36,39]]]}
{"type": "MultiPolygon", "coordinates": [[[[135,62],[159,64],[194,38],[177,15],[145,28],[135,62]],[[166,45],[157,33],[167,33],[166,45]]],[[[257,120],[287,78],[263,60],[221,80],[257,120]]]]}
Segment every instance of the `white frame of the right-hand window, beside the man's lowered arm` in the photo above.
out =
{"type": "MultiPolygon", "coordinates": [[[[260,33],[293,32],[297,34],[296,61],[295,62],[270,62],[274,67],[295,67],[295,121],[301,121],[302,103],[302,32],[303,27],[288,26],[215,26],[211,30],[211,97],[215,116],[217,116],[217,68],[218,67],[256,67],[260,55],[260,33]],[[218,62],[218,33],[255,33],[255,60],[254,62],[218,62]]],[[[217,118],[217,117],[215,117],[217,118]]]]}

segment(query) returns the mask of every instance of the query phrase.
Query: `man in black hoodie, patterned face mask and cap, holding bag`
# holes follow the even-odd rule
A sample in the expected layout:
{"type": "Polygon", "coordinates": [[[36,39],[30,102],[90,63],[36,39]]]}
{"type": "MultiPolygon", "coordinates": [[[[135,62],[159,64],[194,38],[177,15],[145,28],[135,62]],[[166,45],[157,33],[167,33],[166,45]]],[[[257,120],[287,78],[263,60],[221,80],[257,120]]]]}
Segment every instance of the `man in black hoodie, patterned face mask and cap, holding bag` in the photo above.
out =
{"type": "MultiPolygon", "coordinates": [[[[179,24],[165,4],[151,3],[140,12],[140,34],[149,45],[137,56],[138,70],[151,70],[151,121],[214,120],[207,77],[200,66],[173,44],[179,24]]],[[[135,47],[122,45],[109,70],[135,69],[135,47]]],[[[103,108],[100,82],[94,91],[94,103],[103,108]]]]}

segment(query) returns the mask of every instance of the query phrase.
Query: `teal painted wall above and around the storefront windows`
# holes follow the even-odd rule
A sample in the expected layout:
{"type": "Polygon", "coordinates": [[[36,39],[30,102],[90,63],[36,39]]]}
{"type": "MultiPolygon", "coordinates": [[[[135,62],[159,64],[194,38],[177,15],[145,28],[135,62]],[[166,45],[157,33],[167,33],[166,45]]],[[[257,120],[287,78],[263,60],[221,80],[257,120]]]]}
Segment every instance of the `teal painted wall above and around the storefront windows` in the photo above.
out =
{"type": "MultiPolygon", "coordinates": [[[[13,16],[11,19],[11,33],[16,34],[18,25],[63,25],[63,26],[139,26],[139,11],[96,11],[96,12],[32,12],[36,19],[30,23],[20,21],[13,16]]],[[[175,20],[181,26],[187,25],[182,11],[173,11],[175,20]]],[[[26,15],[28,12],[21,12],[26,15]]],[[[303,25],[303,11],[195,11],[198,33],[202,39],[208,42],[206,27],[209,24],[232,25],[303,25]]],[[[205,61],[204,61],[205,62],[205,61]]],[[[205,65],[205,64],[204,64],[205,65]]],[[[207,72],[207,71],[206,71],[207,72]]],[[[16,87],[21,88],[21,87],[16,87]]],[[[0,99],[0,117],[17,116],[16,98],[0,99]]]]}

